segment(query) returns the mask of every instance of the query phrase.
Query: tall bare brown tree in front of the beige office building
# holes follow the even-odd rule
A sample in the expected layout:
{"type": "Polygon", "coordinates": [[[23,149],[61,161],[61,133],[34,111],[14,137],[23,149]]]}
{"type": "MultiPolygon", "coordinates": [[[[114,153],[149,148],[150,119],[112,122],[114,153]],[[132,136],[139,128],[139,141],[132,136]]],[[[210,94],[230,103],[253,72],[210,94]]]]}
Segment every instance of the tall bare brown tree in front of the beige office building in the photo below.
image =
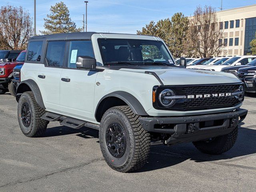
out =
{"type": "Polygon", "coordinates": [[[190,18],[187,52],[200,57],[218,56],[222,51],[222,41],[219,41],[222,38],[216,10],[211,6],[198,6],[190,18]]]}

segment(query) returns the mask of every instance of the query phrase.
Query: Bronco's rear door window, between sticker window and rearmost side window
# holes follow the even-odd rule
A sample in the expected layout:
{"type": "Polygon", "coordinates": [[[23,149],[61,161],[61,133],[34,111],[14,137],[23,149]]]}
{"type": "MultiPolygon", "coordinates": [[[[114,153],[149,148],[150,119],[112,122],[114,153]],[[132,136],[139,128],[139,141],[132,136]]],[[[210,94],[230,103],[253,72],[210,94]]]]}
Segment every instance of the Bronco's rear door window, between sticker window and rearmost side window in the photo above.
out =
{"type": "Polygon", "coordinates": [[[65,53],[65,41],[49,41],[46,49],[46,64],[52,67],[62,67],[65,53]]]}

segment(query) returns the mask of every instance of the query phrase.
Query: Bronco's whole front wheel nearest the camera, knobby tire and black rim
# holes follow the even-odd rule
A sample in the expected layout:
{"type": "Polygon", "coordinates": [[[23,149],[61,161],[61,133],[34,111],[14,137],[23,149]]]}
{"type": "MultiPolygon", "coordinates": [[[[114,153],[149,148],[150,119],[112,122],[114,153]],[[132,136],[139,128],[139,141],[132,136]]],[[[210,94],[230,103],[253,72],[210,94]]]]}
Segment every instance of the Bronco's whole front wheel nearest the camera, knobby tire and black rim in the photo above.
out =
{"type": "Polygon", "coordinates": [[[100,122],[100,148],[107,164],[119,172],[138,170],[146,163],[150,151],[150,134],[128,106],[105,112],[100,122]]]}

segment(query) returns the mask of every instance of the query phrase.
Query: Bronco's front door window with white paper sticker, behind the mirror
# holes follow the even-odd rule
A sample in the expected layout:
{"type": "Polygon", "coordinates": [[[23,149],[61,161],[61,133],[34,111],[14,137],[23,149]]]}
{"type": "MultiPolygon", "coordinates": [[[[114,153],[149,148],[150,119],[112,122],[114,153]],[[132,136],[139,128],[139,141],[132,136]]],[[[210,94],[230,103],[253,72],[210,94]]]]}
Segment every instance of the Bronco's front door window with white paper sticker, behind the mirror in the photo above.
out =
{"type": "Polygon", "coordinates": [[[71,41],[68,55],[68,68],[76,68],[77,56],[90,56],[94,58],[91,41],[71,41]]]}

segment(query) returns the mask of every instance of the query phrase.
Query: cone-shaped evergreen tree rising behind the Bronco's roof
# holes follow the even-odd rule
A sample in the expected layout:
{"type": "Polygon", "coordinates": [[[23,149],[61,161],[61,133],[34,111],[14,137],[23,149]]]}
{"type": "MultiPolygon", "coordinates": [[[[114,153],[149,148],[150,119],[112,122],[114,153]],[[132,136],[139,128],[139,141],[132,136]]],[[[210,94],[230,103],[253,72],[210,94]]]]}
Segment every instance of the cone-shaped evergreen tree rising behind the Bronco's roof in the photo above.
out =
{"type": "Polygon", "coordinates": [[[46,30],[40,31],[44,35],[82,31],[82,28],[77,29],[76,24],[71,21],[68,7],[62,1],[51,6],[50,14],[47,14],[47,17],[47,19],[44,18],[44,28],[46,30]]]}

